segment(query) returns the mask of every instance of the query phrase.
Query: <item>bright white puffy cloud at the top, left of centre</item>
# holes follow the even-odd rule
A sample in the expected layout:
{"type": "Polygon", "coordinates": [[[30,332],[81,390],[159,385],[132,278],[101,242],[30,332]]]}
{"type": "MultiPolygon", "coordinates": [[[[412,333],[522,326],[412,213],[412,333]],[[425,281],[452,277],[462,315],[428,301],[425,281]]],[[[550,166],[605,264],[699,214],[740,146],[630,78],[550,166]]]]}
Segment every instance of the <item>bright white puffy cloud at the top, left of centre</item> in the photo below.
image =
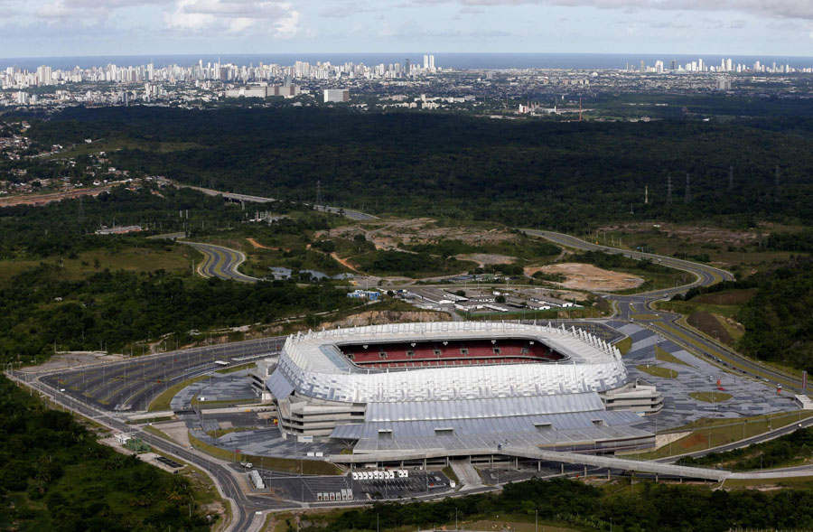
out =
{"type": "Polygon", "coordinates": [[[174,30],[267,31],[278,39],[299,33],[300,13],[288,2],[266,0],[177,0],[164,22],[174,30]]]}

